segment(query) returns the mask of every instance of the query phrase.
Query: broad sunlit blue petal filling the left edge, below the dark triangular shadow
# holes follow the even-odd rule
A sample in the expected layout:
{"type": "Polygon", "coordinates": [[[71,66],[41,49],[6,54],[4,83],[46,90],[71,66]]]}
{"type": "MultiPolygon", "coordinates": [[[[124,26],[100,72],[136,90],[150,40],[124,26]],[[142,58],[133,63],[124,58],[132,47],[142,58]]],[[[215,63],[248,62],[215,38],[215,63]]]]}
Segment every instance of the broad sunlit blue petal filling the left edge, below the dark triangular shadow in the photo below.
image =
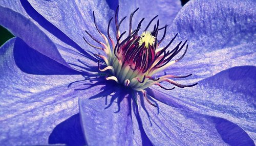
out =
{"type": "MultiPolygon", "coordinates": [[[[83,85],[68,85],[84,78],[26,74],[16,66],[14,43],[15,39],[11,39],[0,48],[0,143],[47,144],[53,128],[78,113],[77,97],[85,95],[75,89],[83,85]]],[[[27,57],[24,62],[29,61],[30,56],[27,57]]]]}

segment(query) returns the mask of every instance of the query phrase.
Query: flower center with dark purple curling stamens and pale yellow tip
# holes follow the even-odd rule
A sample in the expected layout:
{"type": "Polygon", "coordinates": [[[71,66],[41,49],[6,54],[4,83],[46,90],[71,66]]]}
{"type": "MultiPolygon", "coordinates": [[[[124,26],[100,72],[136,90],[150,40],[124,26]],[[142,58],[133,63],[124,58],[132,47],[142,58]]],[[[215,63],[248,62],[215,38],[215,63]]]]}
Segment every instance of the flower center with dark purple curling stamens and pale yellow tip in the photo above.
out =
{"type": "MultiPolygon", "coordinates": [[[[130,87],[134,90],[143,92],[144,97],[146,98],[146,92],[145,88],[158,85],[159,87],[165,89],[165,90],[173,90],[173,88],[165,88],[160,83],[161,82],[168,82],[170,84],[173,84],[177,87],[184,88],[184,87],[191,87],[195,86],[193,85],[181,85],[174,80],[173,78],[186,78],[191,76],[174,76],[174,75],[164,75],[160,76],[158,78],[154,78],[153,75],[155,75],[157,72],[164,70],[165,68],[169,67],[170,65],[178,62],[181,60],[184,55],[187,52],[188,45],[186,44],[187,40],[182,43],[182,41],[175,47],[173,50],[168,50],[168,47],[170,44],[173,43],[174,39],[178,34],[174,36],[170,42],[164,46],[159,47],[161,42],[163,41],[165,34],[166,34],[166,28],[167,25],[160,28],[159,27],[159,20],[157,20],[156,25],[154,25],[154,29],[152,31],[147,31],[148,27],[151,26],[151,23],[154,21],[154,19],[157,17],[155,16],[145,27],[145,30],[141,34],[141,36],[138,36],[138,32],[141,29],[141,23],[143,22],[144,18],[138,23],[137,28],[135,28],[132,31],[132,18],[133,15],[136,13],[136,11],[139,8],[137,8],[134,12],[130,15],[130,28],[128,31],[128,35],[126,38],[123,38],[123,35],[126,33],[120,33],[119,28],[122,23],[122,21],[126,18],[123,17],[118,22],[118,7],[115,14],[115,24],[116,24],[116,42],[112,39],[110,36],[110,24],[113,19],[113,17],[109,21],[108,25],[108,38],[101,33],[101,31],[98,29],[98,26],[96,25],[95,15],[93,12],[94,17],[94,23],[97,31],[104,39],[105,43],[100,42],[99,40],[95,39],[91,34],[86,31],[86,33],[97,43],[99,43],[102,47],[95,46],[91,44],[89,41],[87,41],[86,38],[84,40],[91,45],[92,47],[98,48],[105,52],[106,56],[95,54],[101,60],[101,62],[104,62],[103,66],[105,66],[103,69],[101,69],[100,61],[98,61],[98,68],[100,71],[106,72],[106,80],[115,80],[119,84],[123,84],[124,86],[130,87]],[[158,40],[158,32],[164,30],[163,36],[160,40],[158,40]],[[111,44],[109,43],[109,40],[111,44]],[[185,47],[184,53],[176,60],[173,60],[173,58],[178,55],[181,50],[185,47]]],[[[147,98],[146,100],[153,106],[147,98]]]]}

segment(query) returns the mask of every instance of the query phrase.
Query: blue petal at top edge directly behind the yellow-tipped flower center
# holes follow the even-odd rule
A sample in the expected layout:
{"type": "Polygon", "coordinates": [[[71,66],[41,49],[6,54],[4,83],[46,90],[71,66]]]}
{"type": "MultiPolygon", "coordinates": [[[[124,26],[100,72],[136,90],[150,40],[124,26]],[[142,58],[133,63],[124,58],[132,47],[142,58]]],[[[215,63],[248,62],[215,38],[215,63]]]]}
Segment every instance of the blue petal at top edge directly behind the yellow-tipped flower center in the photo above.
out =
{"type": "MultiPolygon", "coordinates": [[[[167,1],[119,1],[120,10],[119,18],[127,16],[124,25],[121,27],[124,28],[123,31],[129,30],[129,18],[130,14],[135,11],[137,8],[139,10],[135,13],[133,17],[133,30],[137,28],[140,20],[145,17],[145,20],[142,23],[142,31],[146,28],[148,22],[151,21],[153,17],[158,15],[160,27],[165,25],[170,26],[177,15],[177,13],[182,8],[181,2],[179,0],[167,0],[167,1]]],[[[152,23],[148,31],[153,31],[154,25],[157,23],[157,19],[152,23]],[[153,25],[154,24],[154,25],[153,25]]],[[[142,33],[142,32],[141,32],[142,33]]],[[[167,32],[168,33],[168,32],[167,32]]],[[[159,31],[159,36],[163,34],[162,31],[159,31]]]]}

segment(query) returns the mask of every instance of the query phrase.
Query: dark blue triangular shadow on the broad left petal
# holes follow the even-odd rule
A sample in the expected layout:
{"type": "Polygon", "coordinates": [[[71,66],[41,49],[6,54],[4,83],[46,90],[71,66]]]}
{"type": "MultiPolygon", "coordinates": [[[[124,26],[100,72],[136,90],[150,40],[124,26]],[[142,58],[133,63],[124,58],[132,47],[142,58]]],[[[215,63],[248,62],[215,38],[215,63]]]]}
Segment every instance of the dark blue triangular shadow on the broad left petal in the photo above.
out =
{"type": "MultiPolygon", "coordinates": [[[[4,52],[3,52],[4,53],[4,52]]],[[[34,75],[75,75],[79,74],[51,58],[40,54],[28,46],[22,39],[16,38],[13,46],[13,56],[20,70],[34,75]]],[[[6,70],[5,70],[6,71],[6,70]]],[[[0,71],[1,72],[1,71],[0,71]]]]}

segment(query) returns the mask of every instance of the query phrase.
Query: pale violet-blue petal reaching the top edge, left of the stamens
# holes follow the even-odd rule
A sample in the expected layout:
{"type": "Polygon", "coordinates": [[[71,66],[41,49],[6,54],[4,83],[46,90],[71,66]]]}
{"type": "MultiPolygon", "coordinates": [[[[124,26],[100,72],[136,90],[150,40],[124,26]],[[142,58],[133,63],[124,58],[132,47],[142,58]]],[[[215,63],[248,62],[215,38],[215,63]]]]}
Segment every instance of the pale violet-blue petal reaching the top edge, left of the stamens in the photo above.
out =
{"type": "MultiPolygon", "coordinates": [[[[81,48],[93,53],[97,53],[98,50],[95,50],[95,48],[92,48],[83,40],[84,36],[88,38],[91,43],[94,42],[84,31],[89,31],[95,38],[104,42],[94,26],[93,11],[95,11],[97,25],[104,34],[107,32],[108,21],[114,14],[113,10],[111,10],[104,1],[79,3],[74,1],[29,1],[29,3],[33,7],[29,9],[35,9],[37,13],[46,18],[81,48]]],[[[114,23],[112,26],[114,26],[114,23]]],[[[113,30],[113,28],[111,28],[111,30],[113,30]]],[[[100,44],[96,43],[95,45],[100,44]]]]}

